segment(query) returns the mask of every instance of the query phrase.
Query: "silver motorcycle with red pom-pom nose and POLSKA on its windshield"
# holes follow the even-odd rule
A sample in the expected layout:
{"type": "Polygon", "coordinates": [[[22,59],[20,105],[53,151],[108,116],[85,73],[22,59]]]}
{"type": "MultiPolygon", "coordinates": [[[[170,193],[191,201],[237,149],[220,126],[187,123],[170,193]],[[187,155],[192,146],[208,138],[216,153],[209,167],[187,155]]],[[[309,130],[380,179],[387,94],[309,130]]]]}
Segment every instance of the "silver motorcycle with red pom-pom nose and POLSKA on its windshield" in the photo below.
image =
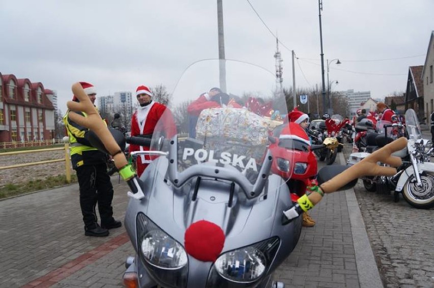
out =
{"type": "Polygon", "coordinates": [[[287,114],[285,97],[273,73],[236,61],[225,66],[229,99],[204,94],[220,83],[219,60],[191,65],[155,127],[151,151],[133,153],[154,160],[136,182],[140,189],[128,193],[125,228],[136,251],[126,260],[128,285],[284,287],[272,274],[302,227],[300,216],[283,214],[294,207],[285,180],[270,174],[268,135],[282,124],[270,116],[287,114]],[[271,102],[273,111],[239,108],[248,97],[271,102]],[[215,105],[200,112],[196,138],[187,138],[188,112],[209,101],[215,105]]]}

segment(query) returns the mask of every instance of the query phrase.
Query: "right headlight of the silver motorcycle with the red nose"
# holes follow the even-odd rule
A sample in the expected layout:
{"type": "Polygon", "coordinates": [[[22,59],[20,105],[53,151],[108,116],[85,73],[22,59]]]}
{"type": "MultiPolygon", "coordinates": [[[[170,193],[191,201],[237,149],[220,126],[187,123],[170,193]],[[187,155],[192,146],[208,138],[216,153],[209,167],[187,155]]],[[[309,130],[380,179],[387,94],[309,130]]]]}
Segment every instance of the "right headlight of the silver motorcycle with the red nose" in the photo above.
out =
{"type": "Polygon", "coordinates": [[[220,255],[209,272],[207,287],[227,286],[227,281],[242,285],[259,280],[273,262],[279,245],[279,238],[273,237],[220,255]]]}

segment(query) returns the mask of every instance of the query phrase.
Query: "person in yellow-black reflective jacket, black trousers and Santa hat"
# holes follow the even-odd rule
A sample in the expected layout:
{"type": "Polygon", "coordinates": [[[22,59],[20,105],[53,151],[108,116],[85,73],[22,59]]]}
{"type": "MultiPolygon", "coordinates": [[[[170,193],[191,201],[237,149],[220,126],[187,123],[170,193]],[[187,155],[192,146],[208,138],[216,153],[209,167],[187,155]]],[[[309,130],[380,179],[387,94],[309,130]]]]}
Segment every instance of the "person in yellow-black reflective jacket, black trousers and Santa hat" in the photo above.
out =
{"type": "MultiPolygon", "coordinates": [[[[96,99],[95,87],[87,82],[80,82],[80,84],[91,102],[94,103],[96,99]]],[[[75,96],[72,100],[78,101],[75,96]]],[[[107,174],[106,164],[108,155],[91,146],[85,138],[89,129],[71,121],[69,119],[70,113],[79,113],[85,117],[86,114],[68,110],[63,118],[70,140],[72,168],[75,169],[78,179],[85,235],[108,236],[108,229],[122,226],[121,221],[113,218],[113,185],[107,174]],[[98,205],[101,225],[98,224],[96,205],[98,205]]],[[[101,118],[101,121],[104,120],[101,118]]]]}

